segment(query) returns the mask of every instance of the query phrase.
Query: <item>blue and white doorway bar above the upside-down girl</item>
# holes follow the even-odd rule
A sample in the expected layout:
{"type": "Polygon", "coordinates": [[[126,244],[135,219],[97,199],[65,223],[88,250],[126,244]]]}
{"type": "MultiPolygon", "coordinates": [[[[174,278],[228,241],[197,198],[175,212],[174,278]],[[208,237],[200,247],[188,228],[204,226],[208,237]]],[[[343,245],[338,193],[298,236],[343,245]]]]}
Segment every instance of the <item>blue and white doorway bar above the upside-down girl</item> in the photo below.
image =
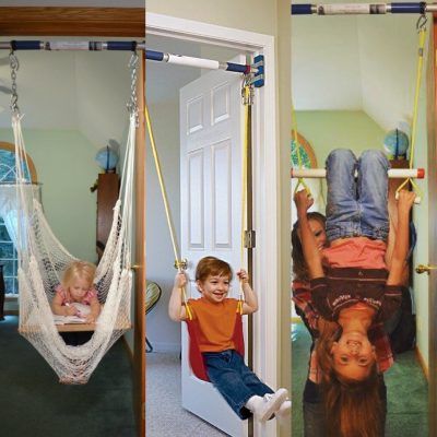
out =
{"type": "Polygon", "coordinates": [[[292,4],[292,15],[355,15],[355,14],[387,14],[437,12],[437,3],[333,3],[333,4],[292,4]]]}

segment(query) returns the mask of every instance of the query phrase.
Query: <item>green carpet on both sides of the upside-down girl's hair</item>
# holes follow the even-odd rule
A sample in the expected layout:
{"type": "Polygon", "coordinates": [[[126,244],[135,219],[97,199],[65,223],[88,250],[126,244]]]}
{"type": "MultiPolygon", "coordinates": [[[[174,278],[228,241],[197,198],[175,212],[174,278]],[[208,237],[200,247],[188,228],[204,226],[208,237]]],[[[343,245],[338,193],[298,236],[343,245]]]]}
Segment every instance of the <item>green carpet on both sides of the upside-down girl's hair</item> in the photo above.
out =
{"type": "MultiPolygon", "coordinates": [[[[310,336],[303,323],[292,327],[293,437],[304,436],[302,393],[308,370],[310,336]]],[[[385,374],[388,392],[386,437],[427,436],[427,383],[413,351],[400,354],[385,374]]]]}

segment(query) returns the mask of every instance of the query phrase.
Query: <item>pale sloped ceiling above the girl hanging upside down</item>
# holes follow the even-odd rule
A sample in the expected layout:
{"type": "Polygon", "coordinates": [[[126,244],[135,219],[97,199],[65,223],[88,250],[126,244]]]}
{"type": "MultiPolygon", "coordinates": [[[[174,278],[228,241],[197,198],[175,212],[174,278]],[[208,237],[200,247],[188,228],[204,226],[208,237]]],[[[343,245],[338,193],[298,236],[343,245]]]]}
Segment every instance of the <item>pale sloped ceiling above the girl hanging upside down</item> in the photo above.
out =
{"type": "Polygon", "coordinates": [[[364,110],[386,130],[400,121],[410,123],[416,20],[416,15],[399,14],[294,16],[296,110],[364,110]]]}

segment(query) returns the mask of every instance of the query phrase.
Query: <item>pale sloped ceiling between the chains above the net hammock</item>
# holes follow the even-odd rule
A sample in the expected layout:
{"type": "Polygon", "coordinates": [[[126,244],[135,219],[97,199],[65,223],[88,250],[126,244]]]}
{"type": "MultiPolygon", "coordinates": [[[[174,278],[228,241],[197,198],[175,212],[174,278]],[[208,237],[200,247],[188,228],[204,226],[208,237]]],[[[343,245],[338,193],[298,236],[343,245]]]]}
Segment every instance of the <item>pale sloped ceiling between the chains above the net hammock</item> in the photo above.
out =
{"type": "MultiPolygon", "coordinates": [[[[130,96],[129,52],[17,51],[16,56],[24,128],[80,130],[96,147],[109,138],[122,140],[130,96]]],[[[11,85],[9,66],[0,67],[0,80],[11,85]]],[[[9,99],[0,92],[1,128],[11,126],[9,99]]]]}

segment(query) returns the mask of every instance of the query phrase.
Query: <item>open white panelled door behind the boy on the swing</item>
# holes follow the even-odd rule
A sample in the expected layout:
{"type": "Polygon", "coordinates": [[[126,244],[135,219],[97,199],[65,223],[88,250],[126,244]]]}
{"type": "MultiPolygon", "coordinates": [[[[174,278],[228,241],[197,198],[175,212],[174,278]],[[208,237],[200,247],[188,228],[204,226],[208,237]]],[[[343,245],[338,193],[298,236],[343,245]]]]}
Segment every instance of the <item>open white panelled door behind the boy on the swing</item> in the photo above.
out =
{"type": "MultiPolygon", "coordinates": [[[[244,57],[237,60],[245,62],[244,57]]],[[[181,255],[188,260],[187,294],[200,297],[194,269],[205,256],[240,268],[241,76],[212,71],[180,90],[181,255]]],[[[238,296],[238,282],[232,284],[238,296]]],[[[240,421],[210,382],[192,375],[182,323],[182,406],[231,436],[246,436],[240,421]]]]}

